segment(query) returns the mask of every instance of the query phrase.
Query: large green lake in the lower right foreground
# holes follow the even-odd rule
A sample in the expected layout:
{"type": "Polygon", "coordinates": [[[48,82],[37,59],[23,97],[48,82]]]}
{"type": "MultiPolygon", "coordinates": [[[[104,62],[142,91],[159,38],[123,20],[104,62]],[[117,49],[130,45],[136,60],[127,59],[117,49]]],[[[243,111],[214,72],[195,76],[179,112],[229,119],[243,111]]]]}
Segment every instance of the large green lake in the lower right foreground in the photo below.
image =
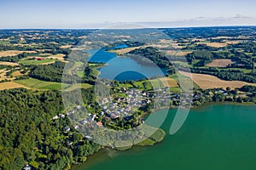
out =
{"type": "Polygon", "coordinates": [[[160,144],[122,152],[101,150],[75,169],[256,169],[255,105],[207,105],[191,110],[183,127],[170,135],[175,113],[169,111],[162,125],[166,139],[160,144]]]}

